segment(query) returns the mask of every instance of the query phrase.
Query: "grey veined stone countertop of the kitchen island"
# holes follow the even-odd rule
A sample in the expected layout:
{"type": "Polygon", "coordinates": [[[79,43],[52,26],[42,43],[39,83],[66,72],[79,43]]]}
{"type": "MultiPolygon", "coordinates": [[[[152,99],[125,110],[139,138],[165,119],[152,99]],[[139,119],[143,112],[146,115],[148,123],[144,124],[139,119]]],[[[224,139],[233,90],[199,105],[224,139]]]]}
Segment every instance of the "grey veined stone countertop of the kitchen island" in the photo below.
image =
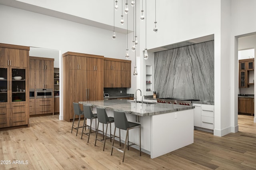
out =
{"type": "Polygon", "coordinates": [[[80,101],[79,104],[89,105],[92,107],[100,107],[113,111],[122,111],[138,116],[152,116],[170,112],[194,109],[194,106],[174,105],[165,103],[146,104],[134,103],[132,100],[100,100],[100,101],[80,101]]]}

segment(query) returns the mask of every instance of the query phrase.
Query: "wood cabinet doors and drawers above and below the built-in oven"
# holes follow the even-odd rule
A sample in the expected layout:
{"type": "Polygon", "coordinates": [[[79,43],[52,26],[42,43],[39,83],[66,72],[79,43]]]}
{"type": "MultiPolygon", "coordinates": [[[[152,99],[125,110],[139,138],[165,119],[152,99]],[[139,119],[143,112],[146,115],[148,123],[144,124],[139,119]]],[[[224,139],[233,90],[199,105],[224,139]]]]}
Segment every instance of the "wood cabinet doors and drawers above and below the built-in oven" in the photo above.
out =
{"type": "MultiPolygon", "coordinates": [[[[44,57],[29,57],[29,89],[54,90],[54,59],[44,57]]],[[[30,116],[42,116],[54,114],[54,95],[47,99],[30,99],[30,116]],[[41,103],[40,103],[41,101],[41,103]],[[47,104],[42,104],[42,102],[47,104]],[[45,105],[42,107],[42,105],[45,105]],[[46,107],[47,105],[47,107],[46,107]],[[34,109],[32,109],[34,107],[34,109]]]]}

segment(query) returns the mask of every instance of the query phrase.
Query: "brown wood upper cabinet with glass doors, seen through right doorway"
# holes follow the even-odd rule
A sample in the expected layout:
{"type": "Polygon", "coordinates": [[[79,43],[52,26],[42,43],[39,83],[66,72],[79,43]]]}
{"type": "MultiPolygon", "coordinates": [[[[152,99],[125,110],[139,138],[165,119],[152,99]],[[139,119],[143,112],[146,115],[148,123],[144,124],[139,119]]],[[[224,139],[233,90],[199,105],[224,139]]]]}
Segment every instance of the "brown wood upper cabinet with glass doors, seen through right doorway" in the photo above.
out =
{"type": "Polygon", "coordinates": [[[254,58],[239,60],[239,88],[249,87],[249,71],[254,70],[254,58]]]}

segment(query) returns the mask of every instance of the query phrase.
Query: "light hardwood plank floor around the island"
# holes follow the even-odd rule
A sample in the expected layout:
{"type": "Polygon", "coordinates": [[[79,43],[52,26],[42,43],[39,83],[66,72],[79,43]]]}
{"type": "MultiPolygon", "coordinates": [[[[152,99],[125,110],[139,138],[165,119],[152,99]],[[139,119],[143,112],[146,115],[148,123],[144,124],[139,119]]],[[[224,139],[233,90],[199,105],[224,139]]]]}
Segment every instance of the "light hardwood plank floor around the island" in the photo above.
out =
{"type": "Polygon", "coordinates": [[[58,115],[32,117],[30,128],[0,131],[0,160],[5,163],[0,169],[256,169],[256,123],[251,116],[238,118],[237,133],[217,137],[194,130],[194,144],[154,159],[131,148],[122,163],[121,152],[110,156],[109,140],[103,152],[101,142],[94,146],[95,133],[87,143],[88,136],[80,139],[82,130],[78,136],[70,133],[72,122],[59,121],[58,115]],[[16,160],[20,162],[13,164],[16,160]]]}

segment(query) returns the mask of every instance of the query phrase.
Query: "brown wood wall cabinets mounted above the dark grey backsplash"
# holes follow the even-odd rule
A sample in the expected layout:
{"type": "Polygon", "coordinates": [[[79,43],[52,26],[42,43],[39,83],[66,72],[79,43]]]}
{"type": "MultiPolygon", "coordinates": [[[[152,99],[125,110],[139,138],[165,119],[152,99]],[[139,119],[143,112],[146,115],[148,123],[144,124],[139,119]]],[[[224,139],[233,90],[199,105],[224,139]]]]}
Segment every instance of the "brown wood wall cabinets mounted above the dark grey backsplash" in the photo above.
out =
{"type": "Polygon", "coordinates": [[[104,58],[104,87],[131,87],[131,61],[104,58]]]}

